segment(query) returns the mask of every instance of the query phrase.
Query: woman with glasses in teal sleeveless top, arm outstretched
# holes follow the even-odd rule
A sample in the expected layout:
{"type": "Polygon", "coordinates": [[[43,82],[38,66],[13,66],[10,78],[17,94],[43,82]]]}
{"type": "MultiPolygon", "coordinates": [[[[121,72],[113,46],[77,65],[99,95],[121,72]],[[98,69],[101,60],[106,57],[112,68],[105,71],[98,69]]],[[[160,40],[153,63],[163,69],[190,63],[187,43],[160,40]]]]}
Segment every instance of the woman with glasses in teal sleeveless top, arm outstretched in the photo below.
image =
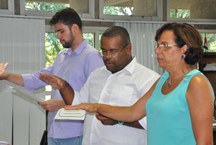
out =
{"type": "MultiPolygon", "coordinates": [[[[190,24],[167,23],[155,36],[155,53],[165,71],[131,107],[80,104],[119,121],[147,116],[148,145],[213,145],[213,89],[196,69],[203,53],[199,32],[190,24]]],[[[145,75],[145,74],[143,74],[145,75]]]]}

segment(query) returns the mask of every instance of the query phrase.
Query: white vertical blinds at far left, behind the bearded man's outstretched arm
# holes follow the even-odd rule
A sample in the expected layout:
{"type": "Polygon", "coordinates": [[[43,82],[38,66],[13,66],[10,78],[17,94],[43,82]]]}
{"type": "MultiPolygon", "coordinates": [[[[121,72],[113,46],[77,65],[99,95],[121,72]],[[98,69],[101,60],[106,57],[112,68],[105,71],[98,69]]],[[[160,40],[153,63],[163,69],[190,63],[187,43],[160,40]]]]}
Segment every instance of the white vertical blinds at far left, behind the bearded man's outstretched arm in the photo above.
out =
{"type": "MultiPolygon", "coordinates": [[[[0,32],[0,62],[9,63],[8,72],[31,73],[44,67],[44,20],[0,17],[0,32]]],[[[5,84],[0,81],[0,140],[13,145],[39,145],[45,111],[13,94],[5,84]]]]}

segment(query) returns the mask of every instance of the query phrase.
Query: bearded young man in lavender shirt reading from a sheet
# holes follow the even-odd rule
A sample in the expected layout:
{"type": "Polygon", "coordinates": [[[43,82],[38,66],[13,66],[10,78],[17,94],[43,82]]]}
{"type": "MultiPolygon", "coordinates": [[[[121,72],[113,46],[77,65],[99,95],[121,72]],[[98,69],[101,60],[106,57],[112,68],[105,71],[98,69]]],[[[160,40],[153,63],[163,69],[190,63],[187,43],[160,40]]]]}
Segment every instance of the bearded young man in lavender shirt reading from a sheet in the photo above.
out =
{"type": "MultiPolygon", "coordinates": [[[[28,90],[35,90],[47,85],[39,79],[40,73],[53,74],[61,77],[80,91],[90,73],[104,65],[98,51],[88,45],[82,35],[82,21],[77,12],[71,8],[57,12],[50,20],[54,26],[57,38],[63,47],[55,58],[54,63],[33,74],[3,73],[0,79],[8,80],[28,90]]],[[[53,89],[51,99],[39,103],[48,110],[48,144],[49,145],[81,145],[83,122],[55,121],[54,117],[59,108],[65,106],[58,90],[53,89]]]]}

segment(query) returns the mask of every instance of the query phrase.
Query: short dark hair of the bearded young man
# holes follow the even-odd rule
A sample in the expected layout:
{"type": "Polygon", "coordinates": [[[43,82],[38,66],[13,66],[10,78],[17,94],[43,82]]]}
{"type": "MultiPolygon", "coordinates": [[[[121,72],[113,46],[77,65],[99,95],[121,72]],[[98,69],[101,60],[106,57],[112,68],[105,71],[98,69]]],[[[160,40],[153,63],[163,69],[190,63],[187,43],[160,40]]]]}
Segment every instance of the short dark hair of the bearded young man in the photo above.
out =
{"type": "Polygon", "coordinates": [[[50,25],[55,25],[56,23],[63,23],[68,27],[73,24],[77,24],[79,29],[82,31],[82,21],[79,14],[72,8],[65,8],[58,11],[50,20],[50,25]]]}

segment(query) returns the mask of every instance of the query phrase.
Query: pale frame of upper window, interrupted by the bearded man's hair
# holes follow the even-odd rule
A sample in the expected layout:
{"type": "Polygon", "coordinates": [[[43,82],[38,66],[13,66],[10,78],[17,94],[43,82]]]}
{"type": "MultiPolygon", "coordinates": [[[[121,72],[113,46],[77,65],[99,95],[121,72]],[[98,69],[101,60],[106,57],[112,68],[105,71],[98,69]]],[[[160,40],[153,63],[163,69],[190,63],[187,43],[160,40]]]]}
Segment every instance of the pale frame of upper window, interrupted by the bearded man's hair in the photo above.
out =
{"type": "MultiPolygon", "coordinates": [[[[52,17],[55,12],[44,12],[44,11],[26,11],[25,10],[25,1],[26,0],[20,0],[20,15],[27,15],[27,16],[40,16],[40,17],[52,17]]],[[[82,13],[80,15],[81,18],[94,18],[95,17],[95,2],[94,0],[88,0],[89,1],[89,13],[82,13]]]]}

